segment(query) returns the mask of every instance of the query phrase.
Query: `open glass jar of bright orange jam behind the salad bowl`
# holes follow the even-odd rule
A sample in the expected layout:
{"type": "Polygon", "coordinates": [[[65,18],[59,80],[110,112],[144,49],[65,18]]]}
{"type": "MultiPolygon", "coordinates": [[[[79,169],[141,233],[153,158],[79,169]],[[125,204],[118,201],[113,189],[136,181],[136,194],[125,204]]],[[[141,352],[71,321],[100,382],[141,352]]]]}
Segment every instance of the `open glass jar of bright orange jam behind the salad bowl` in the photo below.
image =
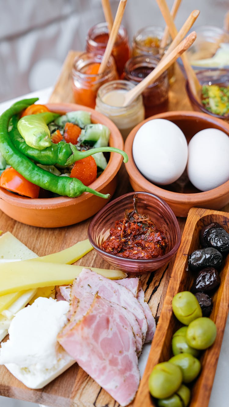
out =
{"type": "Polygon", "coordinates": [[[74,100],[79,105],[92,107],[96,105],[96,94],[101,85],[118,79],[116,64],[111,56],[107,68],[98,74],[103,55],[83,53],[76,57],[72,67],[72,90],[74,100]]]}

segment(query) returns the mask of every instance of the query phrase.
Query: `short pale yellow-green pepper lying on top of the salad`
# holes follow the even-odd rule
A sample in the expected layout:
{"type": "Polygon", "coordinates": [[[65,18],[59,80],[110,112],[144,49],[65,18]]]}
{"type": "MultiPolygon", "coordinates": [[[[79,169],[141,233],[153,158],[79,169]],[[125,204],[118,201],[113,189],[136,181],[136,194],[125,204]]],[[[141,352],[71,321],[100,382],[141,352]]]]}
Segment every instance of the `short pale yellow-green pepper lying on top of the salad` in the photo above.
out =
{"type": "Polygon", "coordinates": [[[47,123],[52,122],[57,117],[59,114],[52,112],[30,114],[18,121],[17,128],[28,146],[44,150],[52,144],[47,123]]]}

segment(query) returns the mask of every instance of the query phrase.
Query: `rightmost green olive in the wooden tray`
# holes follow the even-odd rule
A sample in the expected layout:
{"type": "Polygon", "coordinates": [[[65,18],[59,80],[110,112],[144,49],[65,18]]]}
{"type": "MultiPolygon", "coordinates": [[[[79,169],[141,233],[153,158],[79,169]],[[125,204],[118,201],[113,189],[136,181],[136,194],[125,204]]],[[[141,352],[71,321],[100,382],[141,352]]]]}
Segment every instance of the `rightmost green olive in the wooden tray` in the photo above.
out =
{"type": "Polygon", "coordinates": [[[197,318],[191,322],[186,332],[186,341],[195,349],[207,349],[216,339],[216,325],[207,317],[197,318]]]}

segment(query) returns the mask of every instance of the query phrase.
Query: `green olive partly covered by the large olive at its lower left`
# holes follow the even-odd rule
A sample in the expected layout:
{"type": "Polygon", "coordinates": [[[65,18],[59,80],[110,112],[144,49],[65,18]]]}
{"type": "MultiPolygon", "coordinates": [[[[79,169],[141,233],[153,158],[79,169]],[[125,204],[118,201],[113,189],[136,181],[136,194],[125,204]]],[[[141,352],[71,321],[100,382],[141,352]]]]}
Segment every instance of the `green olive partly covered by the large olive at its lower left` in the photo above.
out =
{"type": "Polygon", "coordinates": [[[189,353],[180,353],[173,356],[169,359],[169,362],[174,363],[181,368],[184,383],[190,383],[196,379],[196,376],[198,376],[201,370],[200,361],[189,353]]]}

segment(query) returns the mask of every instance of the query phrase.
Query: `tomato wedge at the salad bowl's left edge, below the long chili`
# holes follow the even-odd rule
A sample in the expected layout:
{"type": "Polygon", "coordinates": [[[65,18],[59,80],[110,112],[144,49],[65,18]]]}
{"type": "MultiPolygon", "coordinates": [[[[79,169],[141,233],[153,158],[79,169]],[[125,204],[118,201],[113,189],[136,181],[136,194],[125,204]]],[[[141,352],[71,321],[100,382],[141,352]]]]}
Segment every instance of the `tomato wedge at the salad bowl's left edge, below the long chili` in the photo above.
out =
{"type": "Polygon", "coordinates": [[[0,177],[0,186],[30,198],[38,198],[40,190],[39,186],[22,177],[13,167],[3,171],[0,177]]]}

